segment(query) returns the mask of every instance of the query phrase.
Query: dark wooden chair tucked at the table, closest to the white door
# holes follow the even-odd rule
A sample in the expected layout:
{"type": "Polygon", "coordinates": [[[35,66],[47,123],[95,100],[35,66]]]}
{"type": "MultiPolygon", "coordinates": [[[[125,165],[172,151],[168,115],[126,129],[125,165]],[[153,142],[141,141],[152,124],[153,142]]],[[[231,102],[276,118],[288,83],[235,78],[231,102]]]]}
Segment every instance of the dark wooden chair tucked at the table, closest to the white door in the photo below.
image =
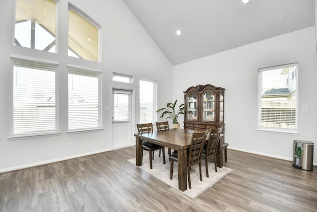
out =
{"type": "MultiPolygon", "coordinates": [[[[153,132],[153,124],[152,123],[137,124],[137,128],[138,128],[139,134],[152,133],[153,132]]],[[[165,150],[164,150],[164,146],[161,146],[161,145],[158,145],[158,144],[155,144],[155,143],[151,143],[149,141],[142,141],[142,149],[146,150],[146,151],[149,151],[150,169],[152,169],[152,160],[154,159],[154,151],[155,150],[162,149],[163,163],[165,164],[165,150]]],[[[159,155],[159,157],[160,157],[160,155],[159,155]]]]}

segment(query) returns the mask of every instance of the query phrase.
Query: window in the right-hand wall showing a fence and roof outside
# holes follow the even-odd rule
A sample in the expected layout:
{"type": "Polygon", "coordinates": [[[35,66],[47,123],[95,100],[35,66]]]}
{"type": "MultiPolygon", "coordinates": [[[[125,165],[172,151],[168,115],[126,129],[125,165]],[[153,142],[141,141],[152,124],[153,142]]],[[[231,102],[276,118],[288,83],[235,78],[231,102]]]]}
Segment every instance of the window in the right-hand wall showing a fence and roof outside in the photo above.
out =
{"type": "Polygon", "coordinates": [[[259,69],[259,129],[297,131],[298,64],[259,69]]]}

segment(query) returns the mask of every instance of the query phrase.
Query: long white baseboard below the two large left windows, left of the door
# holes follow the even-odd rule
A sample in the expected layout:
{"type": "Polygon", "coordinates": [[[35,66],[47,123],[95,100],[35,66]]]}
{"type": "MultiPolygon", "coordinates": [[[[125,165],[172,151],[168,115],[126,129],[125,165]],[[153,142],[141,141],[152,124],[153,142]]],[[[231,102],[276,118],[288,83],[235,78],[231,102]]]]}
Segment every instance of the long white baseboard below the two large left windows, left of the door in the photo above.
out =
{"type": "Polygon", "coordinates": [[[71,155],[71,156],[67,156],[67,157],[56,158],[53,160],[45,160],[45,161],[41,161],[41,162],[37,162],[37,163],[29,163],[29,164],[24,164],[21,166],[13,166],[13,167],[9,167],[9,168],[0,169],[0,173],[30,168],[30,167],[34,167],[34,166],[41,166],[41,165],[45,165],[45,164],[49,164],[49,163],[55,163],[55,162],[69,160],[69,159],[73,159],[73,158],[77,158],[77,157],[98,154],[98,153],[102,153],[102,152],[106,152],[106,151],[111,151],[111,149],[102,149],[102,150],[98,150],[98,151],[86,152],[83,154],[76,154],[76,155],[71,155]]]}

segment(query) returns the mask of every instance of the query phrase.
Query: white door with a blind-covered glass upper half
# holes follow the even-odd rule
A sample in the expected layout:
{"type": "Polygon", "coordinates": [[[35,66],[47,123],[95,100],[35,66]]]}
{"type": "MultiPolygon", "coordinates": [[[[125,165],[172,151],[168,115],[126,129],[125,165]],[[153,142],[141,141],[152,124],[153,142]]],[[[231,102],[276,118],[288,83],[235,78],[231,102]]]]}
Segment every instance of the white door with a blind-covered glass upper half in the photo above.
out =
{"type": "Polygon", "coordinates": [[[112,96],[112,148],[131,146],[131,91],[113,89],[112,96]]]}

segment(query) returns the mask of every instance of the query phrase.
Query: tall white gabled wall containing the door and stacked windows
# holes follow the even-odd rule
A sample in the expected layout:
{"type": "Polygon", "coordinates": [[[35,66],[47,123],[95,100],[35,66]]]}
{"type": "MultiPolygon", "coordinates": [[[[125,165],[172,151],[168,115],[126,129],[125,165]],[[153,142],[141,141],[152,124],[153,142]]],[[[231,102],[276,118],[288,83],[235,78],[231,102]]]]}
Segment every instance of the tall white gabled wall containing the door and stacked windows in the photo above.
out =
{"type": "MultiPolygon", "coordinates": [[[[103,110],[103,131],[67,134],[67,64],[101,69],[103,71],[103,108],[111,108],[111,87],[128,86],[135,91],[133,123],[139,122],[139,79],[158,80],[158,107],[172,100],[172,66],[160,49],[137,21],[122,0],[69,0],[102,26],[102,63],[67,56],[68,1],[59,1],[58,52],[52,54],[12,45],[13,0],[0,3],[0,172],[53,162],[94,152],[110,150],[111,110],[103,110]],[[22,140],[8,140],[10,55],[27,55],[32,58],[59,63],[59,136],[22,140]],[[112,71],[134,76],[134,83],[112,82],[112,71]],[[67,148],[67,143],[72,148],[67,148]]],[[[135,133],[133,128],[133,134],[135,133]]],[[[132,138],[135,142],[135,138],[132,138]]]]}

